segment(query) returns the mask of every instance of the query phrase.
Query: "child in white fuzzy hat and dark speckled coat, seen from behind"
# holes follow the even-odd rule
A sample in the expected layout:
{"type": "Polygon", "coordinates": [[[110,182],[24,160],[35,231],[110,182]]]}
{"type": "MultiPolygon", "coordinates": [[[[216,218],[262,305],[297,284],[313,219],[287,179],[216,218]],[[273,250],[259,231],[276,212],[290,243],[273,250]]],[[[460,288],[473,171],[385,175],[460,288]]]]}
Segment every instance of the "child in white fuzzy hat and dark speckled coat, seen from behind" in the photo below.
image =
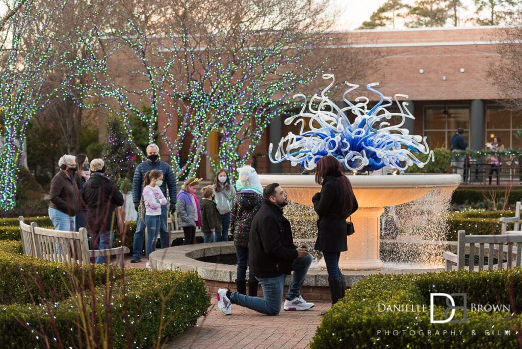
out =
{"type": "MultiPolygon", "coordinates": [[[[235,182],[238,192],[232,199],[230,232],[234,237],[238,269],[235,285],[239,293],[246,295],[246,269],[248,267],[248,236],[250,225],[259,207],[263,205],[263,187],[256,170],[251,166],[238,168],[239,178],[235,182]]],[[[252,271],[248,272],[248,295],[257,295],[258,282],[252,271]]]]}

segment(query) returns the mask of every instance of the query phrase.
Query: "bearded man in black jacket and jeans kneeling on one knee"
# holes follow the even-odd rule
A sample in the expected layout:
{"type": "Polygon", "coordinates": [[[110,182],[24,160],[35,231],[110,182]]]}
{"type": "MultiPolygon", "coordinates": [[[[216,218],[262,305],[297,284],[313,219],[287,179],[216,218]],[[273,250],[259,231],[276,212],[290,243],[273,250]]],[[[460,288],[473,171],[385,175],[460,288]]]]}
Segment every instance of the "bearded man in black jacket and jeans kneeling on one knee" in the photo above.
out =
{"type": "Polygon", "coordinates": [[[298,248],[293,243],[290,222],[282,211],[288,204],[288,195],[278,183],[271,183],[263,190],[263,197],[265,204],[257,211],[248,238],[248,265],[263,288],[263,298],[220,288],[218,308],[224,315],[230,315],[232,304],[266,315],[278,315],[284,278],[292,271],[284,310],[307,310],[314,306],[301,297],[301,286],[312,263],[312,255],[306,248],[298,248]]]}

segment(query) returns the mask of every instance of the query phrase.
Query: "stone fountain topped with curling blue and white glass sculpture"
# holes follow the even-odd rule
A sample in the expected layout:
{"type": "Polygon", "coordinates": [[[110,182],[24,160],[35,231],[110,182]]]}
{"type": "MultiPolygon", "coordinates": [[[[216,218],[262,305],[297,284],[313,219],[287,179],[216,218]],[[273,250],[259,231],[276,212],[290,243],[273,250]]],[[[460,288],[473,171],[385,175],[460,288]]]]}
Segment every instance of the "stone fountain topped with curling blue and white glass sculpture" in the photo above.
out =
{"type": "MultiPolygon", "coordinates": [[[[369,106],[370,99],[358,97],[355,103],[346,96],[357,89],[358,85],[347,83],[350,87],[343,94],[347,107],[338,107],[327,97],[327,91],[334,85],[334,76],[325,74],[324,79],[331,83],[305,103],[299,114],[287,118],[288,125],[301,124],[299,135],[289,133],[279,142],[276,154],[272,157],[272,144],[269,155],[272,162],[289,160],[293,166],[300,165],[308,171],[315,168],[319,158],[333,155],[343,167],[352,173],[374,171],[385,166],[395,168],[397,172],[411,165],[423,167],[433,158],[433,152],[426,144],[426,137],[409,135],[402,129],[406,118],[414,119],[406,108],[406,102],[394,100],[399,112],[389,112],[392,106],[390,97],[373,89],[377,83],[369,84],[366,89],[377,94],[379,101],[369,106]],[[354,118],[350,122],[349,117],[354,118]],[[390,119],[399,119],[397,125],[391,125],[390,119]],[[306,130],[305,130],[306,129],[306,130]],[[428,155],[425,161],[416,154],[428,155]]],[[[263,185],[277,182],[289,194],[289,200],[312,205],[312,196],[321,190],[315,183],[314,176],[303,175],[260,175],[263,185]]],[[[359,202],[359,210],[352,216],[355,234],[348,239],[348,251],[341,253],[339,266],[343,270],[381,269],[383,262],[379,258],[379,217],[385,206],[394,206],[413,201],[432,190],[442,190],[449,196],[458,187],[460,175],[400,175],[400,176],[349,176],[353,191],[359,202]]],[[[321,263],[319,263],[321,265],[321,263]]],[[[324,263],[323,263],[324,265],[324,263]]]]}

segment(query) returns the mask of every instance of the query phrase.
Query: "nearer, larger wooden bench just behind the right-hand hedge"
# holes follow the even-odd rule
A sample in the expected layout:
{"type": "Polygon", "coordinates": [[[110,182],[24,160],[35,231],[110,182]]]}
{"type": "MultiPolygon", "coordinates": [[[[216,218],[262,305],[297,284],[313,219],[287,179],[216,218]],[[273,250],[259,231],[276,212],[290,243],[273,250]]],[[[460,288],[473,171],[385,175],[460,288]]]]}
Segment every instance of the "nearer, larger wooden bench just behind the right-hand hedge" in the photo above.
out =
{"type": "Polygon", "coordinates": [[[465,254],[469,253],[470,271],[481,271],[483,269],[511,269],[520,266],[522,255],[522,234],[505,235],[466,235],[465,230],[458,231],[457,254],[444,252],[446,270],[465,268],[465,254]],[[475,256],[478,262],[475,263],[475,256]],[[484,265],[484,257],[488,258],[488,264],[484,265]],[[497,263],[493,259],[497,258],[497,263]],[[506,260],[506,262],[504,262],[506,260]]]}

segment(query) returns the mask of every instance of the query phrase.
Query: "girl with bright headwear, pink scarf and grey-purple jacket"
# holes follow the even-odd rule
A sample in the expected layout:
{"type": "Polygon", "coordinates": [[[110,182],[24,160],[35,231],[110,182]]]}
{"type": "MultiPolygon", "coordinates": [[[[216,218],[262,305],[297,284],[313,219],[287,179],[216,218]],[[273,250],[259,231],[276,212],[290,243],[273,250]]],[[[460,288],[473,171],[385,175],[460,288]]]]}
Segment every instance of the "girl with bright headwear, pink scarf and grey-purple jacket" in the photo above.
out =
{"type": "Polygon", "coordinates": [[[196,197],[201,179],[188,177],[176,197],[176,211],[185,235],[183,245],[193,245],[196,242],[196,226],[201,226],[201,212],[196,197]]]}

